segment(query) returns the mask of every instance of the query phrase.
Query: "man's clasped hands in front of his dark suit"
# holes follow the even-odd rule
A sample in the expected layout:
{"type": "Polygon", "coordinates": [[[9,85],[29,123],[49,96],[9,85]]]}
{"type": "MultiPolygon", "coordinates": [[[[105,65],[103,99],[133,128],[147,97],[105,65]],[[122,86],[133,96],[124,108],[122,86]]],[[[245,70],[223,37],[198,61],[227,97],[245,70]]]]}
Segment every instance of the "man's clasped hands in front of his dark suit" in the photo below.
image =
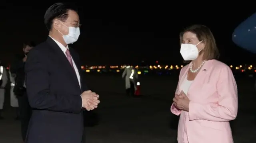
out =
{"type": "Polygon", "coordinates": [[[100,103],[99,95],[91,90],[84,91],[81,94],[82,98],[82,107],[85,108],[87,111],[94,110],[98,107],[100,103]]]}

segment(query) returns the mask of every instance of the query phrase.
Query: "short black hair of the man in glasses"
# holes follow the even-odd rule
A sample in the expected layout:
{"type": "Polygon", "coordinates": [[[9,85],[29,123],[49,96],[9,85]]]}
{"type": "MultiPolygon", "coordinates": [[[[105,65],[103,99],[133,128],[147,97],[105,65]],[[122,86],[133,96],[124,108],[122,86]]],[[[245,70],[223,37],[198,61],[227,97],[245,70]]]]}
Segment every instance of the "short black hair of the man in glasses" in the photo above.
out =
{"type": "Polygon", "coordinates": [[[44,24],[47,29],[49,31],[52,29],[52,23],[55,18],[58,18],[61,21],[67,20],[69,10],[78,12],[77,8],[73,4],[58,2],[50,6],[44,14],[44,24]]]}

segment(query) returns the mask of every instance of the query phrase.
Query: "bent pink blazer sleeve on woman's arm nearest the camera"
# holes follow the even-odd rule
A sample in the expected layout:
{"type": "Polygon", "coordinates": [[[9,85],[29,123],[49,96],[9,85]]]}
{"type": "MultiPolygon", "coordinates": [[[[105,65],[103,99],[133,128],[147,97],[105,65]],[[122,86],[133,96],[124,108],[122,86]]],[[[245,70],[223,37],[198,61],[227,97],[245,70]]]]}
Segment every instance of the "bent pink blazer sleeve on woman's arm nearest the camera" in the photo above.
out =
{"type": "Polygon", "coordinates": [[[217,104],[199,104],[190,101],[189,119],[209,121],[229,121],[235,119],[238,110],[238,93],[236,81],[228,66],[221,67],[220,69],[217,93],[219,96],[217,104]]]}

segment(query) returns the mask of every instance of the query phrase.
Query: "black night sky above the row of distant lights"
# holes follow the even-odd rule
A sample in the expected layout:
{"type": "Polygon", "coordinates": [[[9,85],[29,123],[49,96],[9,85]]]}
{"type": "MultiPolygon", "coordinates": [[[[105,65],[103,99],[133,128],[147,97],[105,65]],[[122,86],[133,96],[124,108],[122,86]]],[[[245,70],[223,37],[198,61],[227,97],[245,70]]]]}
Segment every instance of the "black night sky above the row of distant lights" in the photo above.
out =
{"type": "MultiPolygon", "coordinates": [[[[13,55],[22,50],[22,41],[40,43],[46,39],[48,31],[43,17],[53,3],[2,4],[2,61],[10,62],[13,55]]],[[[255,12],[253,6],[208,8],[210,4],[185,7],[160,2],[147,3],[148,6],[132,2],[100,3],[100,6],[80,2],[77,5],[82,27],[80,38],[72,47],[87,65],[138,63],[142,60],[181,63],[178,35],[192,24],[210,27],[220,49],[221,61],[243,63],[254,57],[231,41],[233,29],[255,12]]]]}

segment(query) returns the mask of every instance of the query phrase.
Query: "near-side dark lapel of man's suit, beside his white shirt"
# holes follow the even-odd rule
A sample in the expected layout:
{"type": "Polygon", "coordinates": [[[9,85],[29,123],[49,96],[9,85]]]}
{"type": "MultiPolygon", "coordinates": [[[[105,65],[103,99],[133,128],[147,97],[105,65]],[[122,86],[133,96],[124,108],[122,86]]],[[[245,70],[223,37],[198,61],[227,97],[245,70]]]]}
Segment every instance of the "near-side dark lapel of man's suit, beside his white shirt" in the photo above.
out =
{"type": "MultiPolygon", "coordinates": [[[[63,53],[63,51],[60,49],[60,47],[57,45],[55,41],[52,40],[52,38],[48,37],[46,42],[52,47],[54,51],[54,55],[56,58],[60,61],[59,63],[64,67],[65,70],[63,72],[67,72],[67,76],[74,82],[76,83],[75,85],[80,88],[79,82],[77,80],[76,72],[74,69],[71,67],[66,55],[63,53]]],[[[74,63],[73,63],[74,64],[74,63]]],[[[79,70],[78,70],[79,71],[79,70]]]]}

